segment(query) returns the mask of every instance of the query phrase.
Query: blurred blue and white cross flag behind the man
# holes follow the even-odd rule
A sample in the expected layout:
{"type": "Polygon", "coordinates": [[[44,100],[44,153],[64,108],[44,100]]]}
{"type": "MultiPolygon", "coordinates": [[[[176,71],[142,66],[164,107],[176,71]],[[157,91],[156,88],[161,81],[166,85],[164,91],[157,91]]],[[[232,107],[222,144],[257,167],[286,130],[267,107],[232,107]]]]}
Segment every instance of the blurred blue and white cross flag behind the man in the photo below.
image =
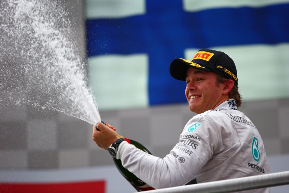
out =
{"type": "Polygon", "coordinates": [[[201,48],[233,58],[245,100],[289,96],[289,0],[86,0],[85,11],[100,109],[186,102],[169,64],[201,48]]]}

